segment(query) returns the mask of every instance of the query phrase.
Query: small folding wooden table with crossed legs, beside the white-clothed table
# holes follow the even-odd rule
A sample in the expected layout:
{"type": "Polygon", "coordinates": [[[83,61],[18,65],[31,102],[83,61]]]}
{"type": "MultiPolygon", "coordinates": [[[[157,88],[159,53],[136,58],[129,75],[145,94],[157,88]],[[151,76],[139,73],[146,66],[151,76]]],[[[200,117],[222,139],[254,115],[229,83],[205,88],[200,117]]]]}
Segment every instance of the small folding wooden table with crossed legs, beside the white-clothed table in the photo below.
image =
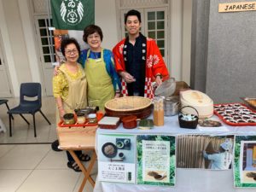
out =
{"type": "Polygon", "coordinates": [[[84,173],[84,180],[81,183],[79,192],[83,191],[84,185],[89,180],[90,184],[94,187],[95,181],[90,177],[90,172],[96,162],[96,151],[95,151],[95,136],[96,126],[85,126],[85,127],[57,127],[57,136],[59,139],[59,148],[67,150],[72,156],[79,168],[84,173]],[[78,156],[74,153],[75,150],[92,150],[92,156],[90,164],[86,169],[79,160],[78,156]]]}

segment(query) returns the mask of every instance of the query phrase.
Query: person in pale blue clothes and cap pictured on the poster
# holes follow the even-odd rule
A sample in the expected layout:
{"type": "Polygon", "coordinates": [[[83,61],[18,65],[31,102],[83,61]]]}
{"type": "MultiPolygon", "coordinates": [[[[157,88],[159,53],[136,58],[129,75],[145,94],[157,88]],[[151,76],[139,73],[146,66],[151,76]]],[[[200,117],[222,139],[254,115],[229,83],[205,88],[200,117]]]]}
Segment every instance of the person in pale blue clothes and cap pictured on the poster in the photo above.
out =
{"type": "Polygon", "coordinates": [[[219,146],[219,151],[215,154],[207,154],[203,151],[203,156],[207,160],[211,160],[211,169],[225,170],[230,168],[233,159],[232,154],[232,140],[226,139],[224,143],[219,146]]]}

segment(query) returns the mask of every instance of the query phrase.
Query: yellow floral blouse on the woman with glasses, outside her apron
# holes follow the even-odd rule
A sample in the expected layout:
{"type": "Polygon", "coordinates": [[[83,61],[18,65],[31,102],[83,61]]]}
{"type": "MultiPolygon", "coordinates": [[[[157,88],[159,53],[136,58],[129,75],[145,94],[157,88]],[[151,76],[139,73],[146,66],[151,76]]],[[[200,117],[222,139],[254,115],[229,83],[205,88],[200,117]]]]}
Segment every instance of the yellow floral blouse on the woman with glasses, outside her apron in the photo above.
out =
{"type": "MultiPolygon", "coordinates": [[[[82,71],[84,70],[82,67],[79,67],[79,71],[77,73],[70,73],[67,70],[67,67],[65,64],[61,65],[61,70],[65,71],[70,79],[79,79],[82,76],[82,71]]],[[[61,97],[62,100],[65,100],[68,95],[68,81],[63,73],[61,73],[60,70],[58,70],[58,75],[53,77],[53,95],[55,97],[61,97]]]]}

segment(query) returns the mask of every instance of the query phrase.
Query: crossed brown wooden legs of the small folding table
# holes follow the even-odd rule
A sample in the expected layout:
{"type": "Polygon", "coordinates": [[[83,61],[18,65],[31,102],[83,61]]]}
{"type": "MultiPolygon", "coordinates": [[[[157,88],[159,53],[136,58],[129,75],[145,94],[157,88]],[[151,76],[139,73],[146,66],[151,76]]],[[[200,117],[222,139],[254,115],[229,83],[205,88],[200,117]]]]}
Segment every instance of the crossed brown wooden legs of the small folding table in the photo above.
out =
{"type": "Polygon", "coordinates": [[[84,173],[84,180],[79,188],[79,192],[82,192],[84,189],[84,185],[86,183],[87,180],[89,180],[90,184],[94,187],[95,186],[95,181],[92,179],[92,177],[90,177],[90,172],[96,162],[96,152],[95,150],[93,150],[93,154],[92,157],[90,159],[90,164],[88,169],[86,169],[84,167],[84,165],[81,163],[81,161],[79,160],[78,156],[74,153],[73,150],[68,150],[68,152],[73,156],[73,159],[76,161],[76,163],[78,164],[79,168],[82,170],[82,172],[84,173]]]}

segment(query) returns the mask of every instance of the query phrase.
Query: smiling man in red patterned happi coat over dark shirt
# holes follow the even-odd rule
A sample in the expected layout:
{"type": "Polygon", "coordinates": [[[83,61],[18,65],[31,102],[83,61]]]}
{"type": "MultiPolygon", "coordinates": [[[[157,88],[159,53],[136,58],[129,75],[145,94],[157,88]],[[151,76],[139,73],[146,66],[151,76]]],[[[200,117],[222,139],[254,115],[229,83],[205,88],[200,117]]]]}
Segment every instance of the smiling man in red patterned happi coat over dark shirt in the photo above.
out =
{"type": "Polygon", "coordinates": [[[123,96],[154,97],[152,82],[157,85],[168,79],[169,73],[160,49],[152,38],[139,32],[141,14],[130,10],[125,15],[128,37],[113,48],[115,67],[122,78],[123,96]]]}

